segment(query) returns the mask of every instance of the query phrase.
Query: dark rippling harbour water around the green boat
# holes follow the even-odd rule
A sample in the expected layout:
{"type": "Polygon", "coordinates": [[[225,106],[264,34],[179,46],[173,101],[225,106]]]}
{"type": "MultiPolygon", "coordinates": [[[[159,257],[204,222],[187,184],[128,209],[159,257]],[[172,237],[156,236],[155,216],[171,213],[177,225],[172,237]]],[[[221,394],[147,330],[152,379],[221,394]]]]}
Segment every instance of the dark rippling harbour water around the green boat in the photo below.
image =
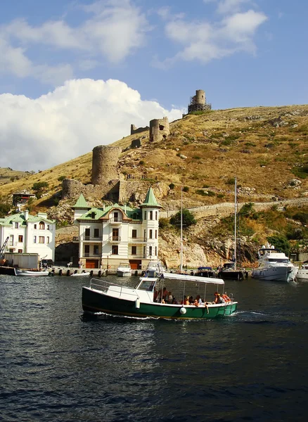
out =
{"type": "Polygon", "coordinates": [[[224,320],[84,316],[88,279],[0,276],[1,421],[306,421],[308,283],[224,320]]]}

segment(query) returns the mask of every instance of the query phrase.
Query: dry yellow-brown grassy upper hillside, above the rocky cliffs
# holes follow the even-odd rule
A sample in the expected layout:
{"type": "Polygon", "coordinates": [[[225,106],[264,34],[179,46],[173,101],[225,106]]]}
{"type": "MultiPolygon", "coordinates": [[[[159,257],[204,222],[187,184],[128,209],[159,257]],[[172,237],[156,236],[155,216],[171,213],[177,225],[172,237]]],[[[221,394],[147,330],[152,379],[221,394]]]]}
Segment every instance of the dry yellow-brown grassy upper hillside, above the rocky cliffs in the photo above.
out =
{"type": "MultiPolygon", "coordinates": [[[[191,204],[229,200],[233,177],[238,185],[254,188],[251,200],[269,196],[294,198],[308,191],[308,106],[236,108],[186,115],[170,124],[167,141],[148,143],[148,133],[127,136],[113,145],[123,150],[145,136],[141,148],[123,151],[119,170],[150,181],[173,183],[166,200],[178,200],[180,186],[191,204]],[[300,187],[291,179],[302,181],[300,187]]],[[[49,193],[61,189],[61,177],[91,181],[91,152],[37,174],[3,184],[9,196],[37,181],[49,182],[49,193]]]]}

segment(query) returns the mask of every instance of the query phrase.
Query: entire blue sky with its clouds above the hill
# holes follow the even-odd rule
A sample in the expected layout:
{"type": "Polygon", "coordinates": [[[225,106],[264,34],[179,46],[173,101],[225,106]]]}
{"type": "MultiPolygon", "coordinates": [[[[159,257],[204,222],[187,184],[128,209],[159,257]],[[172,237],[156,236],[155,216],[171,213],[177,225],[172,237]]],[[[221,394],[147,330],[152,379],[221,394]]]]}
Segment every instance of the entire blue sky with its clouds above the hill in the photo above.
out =
{"type": "Polygon", "coordinates": [[[306,0],[0,1],[0,167],[46,170],[186,113],[307,103],[306,0]]]}

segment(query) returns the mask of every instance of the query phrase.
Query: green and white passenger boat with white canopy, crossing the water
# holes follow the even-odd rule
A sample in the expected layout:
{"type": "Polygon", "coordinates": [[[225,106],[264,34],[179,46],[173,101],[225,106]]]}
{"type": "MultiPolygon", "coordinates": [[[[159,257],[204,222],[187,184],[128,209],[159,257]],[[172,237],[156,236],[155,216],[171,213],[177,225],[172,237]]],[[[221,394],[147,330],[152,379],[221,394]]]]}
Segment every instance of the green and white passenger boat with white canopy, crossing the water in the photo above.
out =
{"type": "MultiPolygon", "coordinates": [[[[164,319],[212,319],[229,316],[236,312],[238,302],[232,298],[229,302],[206,302],[198,306],[155,302],[155,286],[162,288],[167,280],[180,281],[183,298],[189,290],[189,283],[205,289],[207,284],[224,286],[222,279],[147,271],[134,288],[120,286],[110,281],[91,279],[90,287],[82,288],[82,308],[84,312],[103,312],[135,318],[164,319]]],[[[205,298],[205,295],[204,295],[205,298]]]]}

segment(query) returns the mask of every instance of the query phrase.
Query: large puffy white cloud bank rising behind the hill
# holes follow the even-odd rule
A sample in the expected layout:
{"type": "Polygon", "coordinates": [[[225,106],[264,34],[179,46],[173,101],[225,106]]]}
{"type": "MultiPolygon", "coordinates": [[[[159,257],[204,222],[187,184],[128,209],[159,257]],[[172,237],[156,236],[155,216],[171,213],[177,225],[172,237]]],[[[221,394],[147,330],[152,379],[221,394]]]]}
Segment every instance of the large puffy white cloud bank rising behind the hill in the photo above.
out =
{"type": "Polygon", "coordinates": [[[108,145],[165,115],[179,119],[182,110],[165,110],[144,101],[138,91],[115,79],[72,79],[39,98],[0,95],[0,167],[45,170],[108,145]]]}

